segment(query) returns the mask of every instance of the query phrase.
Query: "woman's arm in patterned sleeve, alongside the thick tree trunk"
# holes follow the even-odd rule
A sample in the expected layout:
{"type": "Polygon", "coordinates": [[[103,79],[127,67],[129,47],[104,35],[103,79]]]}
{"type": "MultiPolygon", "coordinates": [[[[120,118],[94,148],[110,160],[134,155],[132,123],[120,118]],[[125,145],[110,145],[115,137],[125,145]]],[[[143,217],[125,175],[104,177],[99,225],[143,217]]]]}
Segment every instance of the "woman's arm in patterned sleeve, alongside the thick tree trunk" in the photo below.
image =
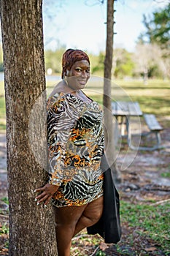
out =
{"type": "Polygon", "coordinates": [[[50,184],[60,186],[66,181],[64,172],[66,144],[75,119],[66,96],[51,97],[47,102],[47,144],[50,184]]]}

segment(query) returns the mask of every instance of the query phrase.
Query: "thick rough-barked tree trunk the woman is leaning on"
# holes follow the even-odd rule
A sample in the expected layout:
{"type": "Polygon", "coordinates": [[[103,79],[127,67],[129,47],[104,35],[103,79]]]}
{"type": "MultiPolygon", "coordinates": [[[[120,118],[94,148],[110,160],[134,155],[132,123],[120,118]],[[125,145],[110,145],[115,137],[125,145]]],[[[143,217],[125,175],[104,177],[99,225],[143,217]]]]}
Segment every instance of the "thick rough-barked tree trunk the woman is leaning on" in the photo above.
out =
{"type": "Polygon", "coordinates": [[[34,189],[47,182],[43,169],[47,153],[42,0],[1,0],[1,30],[7,109],[9,255],[54,256],[57,248],[52,206],[36,206],[34,201],[34,189]],[[34,113],[36,123],[32,125],[29,118],[38,97],[39,111],[34,113]],[[39,134],[32,136],[34,152],[30,131],[39,134]],[[42,164],[37,162],[36,154],[44,159],[42,164]]]}

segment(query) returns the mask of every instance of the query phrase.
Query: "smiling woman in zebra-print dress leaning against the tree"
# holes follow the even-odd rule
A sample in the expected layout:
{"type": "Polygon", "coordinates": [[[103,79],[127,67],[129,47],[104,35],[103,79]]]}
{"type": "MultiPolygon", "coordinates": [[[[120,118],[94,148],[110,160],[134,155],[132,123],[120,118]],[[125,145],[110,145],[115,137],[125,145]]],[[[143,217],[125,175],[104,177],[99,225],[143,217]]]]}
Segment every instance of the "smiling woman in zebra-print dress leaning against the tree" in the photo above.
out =
{"type": "Polygon", "coordinates": [[[72,238],[94,225],[103,211],[104,151],[102,110],[82,91],[90,78],[90,61],[82,50],[63,53],[62,80],[47,102],[50,181],[36,197],[52,198],[58,255],[70,255],[72,238]]]}

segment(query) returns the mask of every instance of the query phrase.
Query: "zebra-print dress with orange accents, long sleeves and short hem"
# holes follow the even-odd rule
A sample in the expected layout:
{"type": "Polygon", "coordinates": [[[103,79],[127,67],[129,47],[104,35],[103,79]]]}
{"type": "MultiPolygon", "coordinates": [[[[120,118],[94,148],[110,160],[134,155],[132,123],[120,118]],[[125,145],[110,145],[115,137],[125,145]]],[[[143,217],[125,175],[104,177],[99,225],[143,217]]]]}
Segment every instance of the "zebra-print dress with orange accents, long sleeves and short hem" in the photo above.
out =
{"type": "Polygon", "coordinates": [[[49,182],[59,186],[54,206],[82,206],[103,195],[102,118],[97,102],[63,92],[48,99],[49,182]]]}

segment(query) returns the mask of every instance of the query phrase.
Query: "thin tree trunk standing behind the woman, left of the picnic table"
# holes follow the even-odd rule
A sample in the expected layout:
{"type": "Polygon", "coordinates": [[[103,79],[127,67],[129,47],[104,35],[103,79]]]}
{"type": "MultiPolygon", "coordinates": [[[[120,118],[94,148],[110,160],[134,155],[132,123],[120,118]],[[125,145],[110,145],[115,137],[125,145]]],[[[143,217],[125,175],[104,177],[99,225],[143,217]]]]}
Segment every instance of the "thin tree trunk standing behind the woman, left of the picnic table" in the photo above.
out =
{"type": "Polygon", "coordinates": [[[117,169],[115,159],[115,129],[111,109],[111,74],[113,56],[113,24],[114,0],[107,0],[107,48],[104,60],[104,140],[107,159],[114,175],[115,181],[120,182],[120,171],[117,169]]]}

